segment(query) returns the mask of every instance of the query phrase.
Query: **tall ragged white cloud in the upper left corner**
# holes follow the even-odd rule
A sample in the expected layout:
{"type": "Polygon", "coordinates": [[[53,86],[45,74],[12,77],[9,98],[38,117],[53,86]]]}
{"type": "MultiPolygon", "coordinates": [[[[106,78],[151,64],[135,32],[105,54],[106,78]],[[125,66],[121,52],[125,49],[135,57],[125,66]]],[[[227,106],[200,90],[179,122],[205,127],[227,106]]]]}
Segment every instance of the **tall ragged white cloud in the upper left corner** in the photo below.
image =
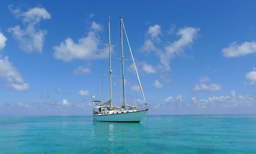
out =
{"type": "Polygon", "coordinates": [[[20,26],[9,27],[8,32],[18,40],[19,46],[22,50],[31,53],[34,51],[42,52],[45,36],[47,31],[44,29],[37,29],[41,20],[51,18],[51,14],[47,12],[45,8],[32,8],[27,12],[22,12],[20,9],[12,9],[9,6],[10,11],[17,18],[20,18],[25,26],[22,29],[20,26]]]}

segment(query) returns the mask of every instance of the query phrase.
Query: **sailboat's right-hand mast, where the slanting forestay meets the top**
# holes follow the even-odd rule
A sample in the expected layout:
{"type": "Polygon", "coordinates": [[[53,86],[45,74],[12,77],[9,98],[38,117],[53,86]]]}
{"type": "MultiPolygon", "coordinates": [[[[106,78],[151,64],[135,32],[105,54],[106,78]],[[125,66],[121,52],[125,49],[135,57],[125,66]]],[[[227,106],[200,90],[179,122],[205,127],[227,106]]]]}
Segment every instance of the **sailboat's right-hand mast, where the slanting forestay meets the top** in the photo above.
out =
{"type": "Polygon", "coordinates": [[[124,78],[124,53],[123,53],[123,19],[120,17],[120,30],[121,30],[121,60],[122,60],[122,79],[123,79],[123,103],[122,108],[125,109],[125,78],[124,78]]]}

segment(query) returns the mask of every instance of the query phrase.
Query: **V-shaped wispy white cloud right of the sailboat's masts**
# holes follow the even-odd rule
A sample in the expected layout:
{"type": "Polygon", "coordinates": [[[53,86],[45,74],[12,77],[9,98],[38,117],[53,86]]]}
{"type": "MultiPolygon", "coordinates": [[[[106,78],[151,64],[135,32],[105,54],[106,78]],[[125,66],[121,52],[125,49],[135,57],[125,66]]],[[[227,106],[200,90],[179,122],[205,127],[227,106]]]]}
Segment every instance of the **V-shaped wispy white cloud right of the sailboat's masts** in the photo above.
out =
{"type": "Polygon", "coordinates": [[[150,37],[147,38],[144,41],[144,44],[140,47],[140,51],[146,52],[146,53],[154,53],[157,56],[159,56],[160,63],[156,67],[160,68],[159,71],[169,71],[170,68],[170,60],[174,56],[185,56],[188,57],[187,54],[185,54],[184,50],[187,47],[191,47],[194,40],[197,38],[197,34],[200,31],[199,28],[196,27],[183,27],[180,28],[176,32],[176,36],[179,36],[180,38],[174,42],[168,42],[168,41],[162,41],[163,45],[159,44],[160,38],[158,37],[161,33],[161,27],[159,25],[154,25],[149,27],[146,34],[148,34],[150,37]],[[156,44],[155,44],[156,43],[156,44]],[[157,47],[157,46],[164,46],[157,47]]]}

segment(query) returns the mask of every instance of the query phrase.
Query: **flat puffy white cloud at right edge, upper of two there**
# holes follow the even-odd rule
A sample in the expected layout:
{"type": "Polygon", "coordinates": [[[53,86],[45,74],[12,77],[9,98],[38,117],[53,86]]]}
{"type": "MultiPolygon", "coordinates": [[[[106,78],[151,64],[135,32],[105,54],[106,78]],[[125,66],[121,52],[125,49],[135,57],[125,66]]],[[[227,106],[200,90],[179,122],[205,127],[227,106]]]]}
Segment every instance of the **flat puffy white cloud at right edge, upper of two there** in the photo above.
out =
{"type": "Polygon", "coordinates": [[[228,47],[222,49],[224,57],[239,57],[247,54],[256,53],[256,42],[244,42],[237,44],[236,42],[231,43],[228,47]]]}

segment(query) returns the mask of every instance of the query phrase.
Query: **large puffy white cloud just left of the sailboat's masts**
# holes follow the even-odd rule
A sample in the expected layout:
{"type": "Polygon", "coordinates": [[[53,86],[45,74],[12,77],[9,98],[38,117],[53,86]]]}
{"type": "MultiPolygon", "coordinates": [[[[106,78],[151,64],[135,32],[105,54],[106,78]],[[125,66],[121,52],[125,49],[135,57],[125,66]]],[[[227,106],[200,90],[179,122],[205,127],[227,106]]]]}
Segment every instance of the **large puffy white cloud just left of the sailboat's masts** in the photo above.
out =
{"type": "Polygon", "coordinates": [[[77,43],[72,38],[67,38],[60,45],[54,46],[55,59],[68,62],[74,59],[92,60],[101,58],[102,49],[99,49],[100,38],[97,34],[100,29],[100,25],[92,22],[91,31],[88,32],[86,37],[79,38],[77,43]]]}

